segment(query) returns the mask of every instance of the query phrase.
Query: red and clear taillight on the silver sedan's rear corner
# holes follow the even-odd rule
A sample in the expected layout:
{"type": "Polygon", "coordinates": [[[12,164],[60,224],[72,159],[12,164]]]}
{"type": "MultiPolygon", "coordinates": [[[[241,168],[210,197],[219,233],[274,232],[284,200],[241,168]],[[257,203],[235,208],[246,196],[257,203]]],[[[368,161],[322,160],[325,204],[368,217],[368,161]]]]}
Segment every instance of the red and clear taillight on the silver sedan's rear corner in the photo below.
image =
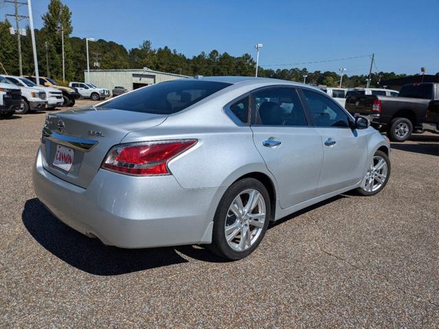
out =
{"type": "Polygon", "coordinates": [[[121,144],[109,151],[102,168],[140,176],[170,174],[168,161],[196,144],[196,139],[121,144]]]}

